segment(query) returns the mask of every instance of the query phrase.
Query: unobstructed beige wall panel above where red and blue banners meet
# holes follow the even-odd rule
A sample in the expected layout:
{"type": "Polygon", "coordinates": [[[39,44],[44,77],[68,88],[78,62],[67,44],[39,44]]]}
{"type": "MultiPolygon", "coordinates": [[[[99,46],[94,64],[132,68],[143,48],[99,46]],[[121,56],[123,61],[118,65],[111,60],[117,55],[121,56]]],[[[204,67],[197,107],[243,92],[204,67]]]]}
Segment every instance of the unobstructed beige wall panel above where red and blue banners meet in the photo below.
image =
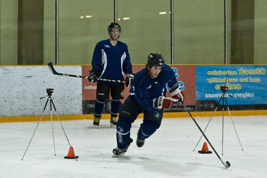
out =
{"type": "Polygon", "coordinates": [[[224,1],[174,2],[175,64],[224,64],[224,1]]]}

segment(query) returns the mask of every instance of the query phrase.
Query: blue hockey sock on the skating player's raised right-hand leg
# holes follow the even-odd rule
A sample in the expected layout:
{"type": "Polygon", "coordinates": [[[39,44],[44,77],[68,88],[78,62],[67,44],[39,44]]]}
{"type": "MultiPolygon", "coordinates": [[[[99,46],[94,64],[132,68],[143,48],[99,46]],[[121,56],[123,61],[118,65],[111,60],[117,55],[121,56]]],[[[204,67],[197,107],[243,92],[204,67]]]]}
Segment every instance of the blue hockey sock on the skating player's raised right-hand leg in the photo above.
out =
{"type": "Polygon", "coordinates": [[[138,131],[138,138],[140,140],[145,140],[149,138],[156,130],[158,129],[158,125],[155,122],[152,121],[144,121],[143,124],[141,124],[141,127],[138,131]]]}

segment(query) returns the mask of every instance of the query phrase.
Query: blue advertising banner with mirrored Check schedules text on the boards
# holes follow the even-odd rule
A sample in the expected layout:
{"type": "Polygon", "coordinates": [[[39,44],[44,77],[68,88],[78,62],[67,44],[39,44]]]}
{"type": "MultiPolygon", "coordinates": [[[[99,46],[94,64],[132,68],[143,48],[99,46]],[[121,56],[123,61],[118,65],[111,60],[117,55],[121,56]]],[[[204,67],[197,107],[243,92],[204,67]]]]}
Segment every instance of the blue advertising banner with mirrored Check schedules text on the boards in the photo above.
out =
{"type": "Polygon", "coordinates": [[[223,94],[221,86],[228,87],[224,95],[228,105],[236,105],[236,108],[237,105],[266,107],[266,71],[267,66],[196,66],[198,108],[214,108],[223,94]],[[209,102],[213,103],[212,106],[209,102]]]}

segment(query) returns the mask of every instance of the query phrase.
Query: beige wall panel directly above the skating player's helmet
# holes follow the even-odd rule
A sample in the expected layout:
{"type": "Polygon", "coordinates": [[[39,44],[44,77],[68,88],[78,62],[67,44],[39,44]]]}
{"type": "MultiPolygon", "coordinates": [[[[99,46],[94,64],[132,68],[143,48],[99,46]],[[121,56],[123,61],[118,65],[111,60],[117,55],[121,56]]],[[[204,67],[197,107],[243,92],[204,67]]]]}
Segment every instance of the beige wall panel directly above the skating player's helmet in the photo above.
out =
{"type": "Polygon", "coordinates": [[[170,1],[118,1],[121,40],[128,45],[131,63],[144,65],[151,52],[160,52],[170,64],[170,1]],[[160,12],[166,14],[160,15],[160,12]],[[129,17],[129,20],[123,20],[129,17]]]}

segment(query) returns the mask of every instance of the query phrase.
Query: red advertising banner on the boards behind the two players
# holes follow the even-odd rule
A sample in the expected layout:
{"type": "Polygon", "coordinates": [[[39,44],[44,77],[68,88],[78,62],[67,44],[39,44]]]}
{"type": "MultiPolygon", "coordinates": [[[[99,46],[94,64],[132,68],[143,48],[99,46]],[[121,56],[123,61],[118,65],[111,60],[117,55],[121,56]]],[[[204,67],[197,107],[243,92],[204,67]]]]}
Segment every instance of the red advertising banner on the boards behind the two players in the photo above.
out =
{"type": "MultiPolygon", "coordinates": [[[[139,72],[144,69],[144,65],[135,65],[132,67],[133,73],[139,72]]],[[[195,106],[195,66],[171,66],[175,73],[177,83],[183,90],[185,98],[185,104],[189,110],[193,110],[195,106]]],[[[89,71],[92,69],[91,66],[82,66],[82,74],[87,76],[89,71]]],[[[124,102],[129,94],[129,89],[125,87],[124,99],[121,100],[121,104],[124,102]]],[[[168,88],[167,88],[168,89],[168,88]]],[[[82,95],[83,95],[83,114],[94,113],[94,105],[96,101],[96,83],[89,83],[87,79],[82,81],[82,95]]],[[[168,97],[171,97],[169,94],[168,97]]],[[[110,97],[111,99],[111,97],[110,97]]],[[[111,100],[105,101],[105,106],[102,113],[110,113],[111,100]]],[[[174,105],[172,108],[165,110],[166,112],[184,111],[182,106],[174,105]]]]}

